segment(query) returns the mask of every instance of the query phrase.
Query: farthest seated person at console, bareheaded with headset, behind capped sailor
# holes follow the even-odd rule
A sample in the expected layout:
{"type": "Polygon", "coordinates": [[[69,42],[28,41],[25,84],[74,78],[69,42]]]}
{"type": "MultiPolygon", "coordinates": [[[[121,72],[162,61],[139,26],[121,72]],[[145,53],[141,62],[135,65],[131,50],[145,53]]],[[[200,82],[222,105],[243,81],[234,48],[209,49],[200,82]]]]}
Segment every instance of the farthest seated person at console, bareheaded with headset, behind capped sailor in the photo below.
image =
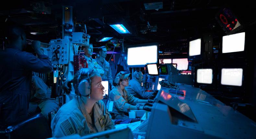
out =
{"type": "Polygon", "coordinates": [[[140,99],[148,99],[153,95],[154,92],[145,92],[141,87],[141,82],[143,80],[143,74],[141,71],[136,70],[133,73],[133,79],[129,81],[129,86],[125,87],[127,91],[130,92],[134,97],[140,99]]]}

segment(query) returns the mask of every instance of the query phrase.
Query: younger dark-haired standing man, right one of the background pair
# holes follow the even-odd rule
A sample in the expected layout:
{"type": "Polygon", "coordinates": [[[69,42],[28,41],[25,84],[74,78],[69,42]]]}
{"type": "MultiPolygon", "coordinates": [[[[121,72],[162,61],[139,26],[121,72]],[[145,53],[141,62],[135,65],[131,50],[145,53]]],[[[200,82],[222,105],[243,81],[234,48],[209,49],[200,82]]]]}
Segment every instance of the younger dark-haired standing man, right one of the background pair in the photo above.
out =
{"type": "Polygon", "coordinates": [[[111,73],[111,68],[109,65],[109,62],[105,60],[107,56],[107,49],[105,46],[99,47],[98,48],[98,53],[99,57],[96,58],[95,60],[99,64],[99,66],[104,70],[104,75],[103,75],[103,80],[109,80],[109,83],[111,84],[111,89],[114,88],[113,86],[113,79],[112,79],[112,73],[111,73]]]}

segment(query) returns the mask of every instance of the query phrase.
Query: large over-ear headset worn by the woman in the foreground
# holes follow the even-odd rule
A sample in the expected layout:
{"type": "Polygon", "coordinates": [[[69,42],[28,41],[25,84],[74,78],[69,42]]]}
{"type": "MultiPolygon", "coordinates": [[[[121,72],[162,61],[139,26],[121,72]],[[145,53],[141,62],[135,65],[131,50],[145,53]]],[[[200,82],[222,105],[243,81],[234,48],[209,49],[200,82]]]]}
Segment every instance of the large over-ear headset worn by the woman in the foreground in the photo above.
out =
{"type": "Polygon", "coordinates": [[[80,75],[77,78],[77,82],[79,82],[79,78],[81,75],[87,75],[88,78],[87,79],[83,79],[79,82],[78,85],[78,93],[81,96],[87,97],[89,96],[90,98],[90,94],[91,94],[91,79],[90,79],[90,75],[93,72],[93,69],[91,68],[83,68],[80,71],[80,75]]]}

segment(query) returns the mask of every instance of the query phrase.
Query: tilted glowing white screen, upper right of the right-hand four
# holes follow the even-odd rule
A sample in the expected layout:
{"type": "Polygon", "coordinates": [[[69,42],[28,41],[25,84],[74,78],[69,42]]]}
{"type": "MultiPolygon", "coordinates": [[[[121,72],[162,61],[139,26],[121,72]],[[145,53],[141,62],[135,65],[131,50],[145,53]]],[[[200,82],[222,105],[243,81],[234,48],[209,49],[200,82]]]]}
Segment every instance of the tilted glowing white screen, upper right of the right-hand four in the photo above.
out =
{"type": "Polygon", "coordinates": [[[223,36],[222,53],[244,51],[245,32],[223,36]]]}

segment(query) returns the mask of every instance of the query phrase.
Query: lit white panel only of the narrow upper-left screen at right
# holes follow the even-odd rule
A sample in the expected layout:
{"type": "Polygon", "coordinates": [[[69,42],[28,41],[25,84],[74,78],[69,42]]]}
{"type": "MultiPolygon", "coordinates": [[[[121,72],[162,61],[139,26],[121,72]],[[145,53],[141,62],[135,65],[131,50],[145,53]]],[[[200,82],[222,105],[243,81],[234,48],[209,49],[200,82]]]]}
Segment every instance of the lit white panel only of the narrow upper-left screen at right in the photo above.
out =
{"type": "Polygon", "coordinates": [[[189,42],[189,56],[201,54],[201,38],[189,42]]]}

